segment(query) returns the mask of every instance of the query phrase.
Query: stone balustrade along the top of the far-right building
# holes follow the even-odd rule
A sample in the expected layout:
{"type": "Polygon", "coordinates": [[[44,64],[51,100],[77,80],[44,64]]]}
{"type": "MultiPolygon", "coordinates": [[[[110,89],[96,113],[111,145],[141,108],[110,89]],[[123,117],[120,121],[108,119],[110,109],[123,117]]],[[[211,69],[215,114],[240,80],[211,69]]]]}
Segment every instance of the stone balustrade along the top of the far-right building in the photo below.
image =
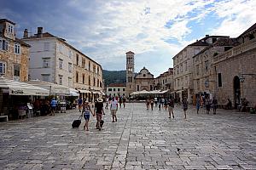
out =
{"type": "Polygon", "coordinates": [[[254,38],[249,42],[245,42],[245,43],[242,43],[241,45],[231,48],[224,54],[218,54],[217,56],[214,56],[213,65],[223,61],[224,59],[229,59],[230,57],[234,57],[238,54],[245,53],[253,48],[256,48],[256,38],[254,38]]]}

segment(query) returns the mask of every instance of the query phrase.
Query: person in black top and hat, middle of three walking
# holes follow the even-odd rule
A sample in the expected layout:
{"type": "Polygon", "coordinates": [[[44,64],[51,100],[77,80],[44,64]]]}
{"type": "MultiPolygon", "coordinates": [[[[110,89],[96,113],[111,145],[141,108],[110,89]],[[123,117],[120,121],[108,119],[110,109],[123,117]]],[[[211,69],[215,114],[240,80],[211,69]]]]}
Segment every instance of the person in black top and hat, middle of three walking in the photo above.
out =
{"type": "Polygon", "coordinates": [[[101,98],[96,99],[96,104],[94,108],[94,115],[96,114],[96,128],[102,130],[102,114],[104,113],[103,110],[103,100],[101,98]]]}

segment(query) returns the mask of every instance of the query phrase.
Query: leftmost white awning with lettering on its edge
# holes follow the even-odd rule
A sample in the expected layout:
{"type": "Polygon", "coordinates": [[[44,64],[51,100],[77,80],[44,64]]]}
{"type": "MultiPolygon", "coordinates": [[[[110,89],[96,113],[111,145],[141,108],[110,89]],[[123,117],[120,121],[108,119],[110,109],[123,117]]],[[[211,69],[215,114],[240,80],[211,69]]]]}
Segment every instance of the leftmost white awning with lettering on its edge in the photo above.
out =
{"type": "Polygon", "coordinates": [[[49,90],[32,86],[26,82],[18,82],[0,77],[0,88],[5,89],[10,95],[38,95],[47,96],[49,90]]]}

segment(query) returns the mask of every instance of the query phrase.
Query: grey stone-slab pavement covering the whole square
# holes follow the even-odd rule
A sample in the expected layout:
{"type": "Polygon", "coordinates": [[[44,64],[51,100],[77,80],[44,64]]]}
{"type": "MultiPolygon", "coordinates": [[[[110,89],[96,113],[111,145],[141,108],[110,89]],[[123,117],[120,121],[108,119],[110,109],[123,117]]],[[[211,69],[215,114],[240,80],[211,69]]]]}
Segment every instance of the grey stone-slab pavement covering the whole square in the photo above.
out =
{"type": "MultiPolygon", "coordinates": [[[[256,116],[127,104],[102,131],[71,128],[78,110],[0,123],[0,169],[256,169],[256,116]],[[178,151],[178,149],[180,149],[178,151]]],[[[84,120],[83,122],[84,123],[84,120]]]]}

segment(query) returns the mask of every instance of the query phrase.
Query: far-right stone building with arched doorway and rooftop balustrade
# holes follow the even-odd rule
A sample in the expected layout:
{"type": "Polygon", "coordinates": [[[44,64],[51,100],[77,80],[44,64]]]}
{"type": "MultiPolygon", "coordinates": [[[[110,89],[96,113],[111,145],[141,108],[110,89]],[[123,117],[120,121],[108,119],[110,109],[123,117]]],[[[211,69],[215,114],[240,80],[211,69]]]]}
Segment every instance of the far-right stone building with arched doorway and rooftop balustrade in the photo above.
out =
{"type": "Polygon", "coordinates": [[[218,103],[224,104],[230,99],[236,108],[241,103],[241,98],[246,98],[249,105],[256,104],[255,37],[256,24],[236,38],[240,45],[214,56],[218,103]]]}

